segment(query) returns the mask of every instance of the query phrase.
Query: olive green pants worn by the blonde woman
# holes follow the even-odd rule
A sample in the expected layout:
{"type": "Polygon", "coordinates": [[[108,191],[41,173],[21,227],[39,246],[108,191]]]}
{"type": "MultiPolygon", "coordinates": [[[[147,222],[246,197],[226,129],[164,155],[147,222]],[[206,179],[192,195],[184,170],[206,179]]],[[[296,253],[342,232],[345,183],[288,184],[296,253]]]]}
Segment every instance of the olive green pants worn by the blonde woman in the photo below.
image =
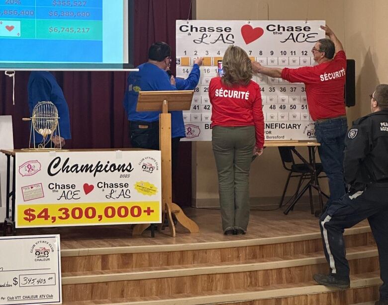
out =
{"type": "Polygon", "coordinates": [[[212,129],[224,232],[230,229],[247,230],[249,170],[255,141],[255,126],[214,126],[212,129]]]}

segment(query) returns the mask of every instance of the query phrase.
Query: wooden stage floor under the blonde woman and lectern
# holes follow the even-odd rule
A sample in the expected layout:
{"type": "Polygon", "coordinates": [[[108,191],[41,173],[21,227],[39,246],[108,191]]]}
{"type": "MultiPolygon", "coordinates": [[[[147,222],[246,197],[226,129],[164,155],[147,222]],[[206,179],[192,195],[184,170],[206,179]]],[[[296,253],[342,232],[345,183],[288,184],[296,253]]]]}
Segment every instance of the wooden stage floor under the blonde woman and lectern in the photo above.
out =
{"type": "MultiPolygon", "coordinates": [[[[303,207],[304,208],[304,207],[303,207]]],[[[308,209],[308,207],[306,207],[308,209]]],[[[225,244],[238,241],[249,242],[258,239],[279,240],[287,242],[292,236],[319,237],[318,218],[307,211],[295,210],[284,215],[282,210],[258,211],[251,210],[250,222],[246,235],[225,236],[222,234],[221,217],[218,209],[187,208],[185,213],[199,226],[199,233],[190,234],[178,225],[177,237],[169,236],[170,230],[165,228],[161,233],[155,231],[155,238],[151,238],[151,231],[143,232],[140,237],[132,237],[129,225],[116,226],[85,226],[85,227],[57,227],[17,229],[17,235],[60,234],[61,249],[91,249],[129,246],[158,246],[158,245],[188,245],[188,244],[225,244]],[[275,238],[275,239],[274,239],[275,238]]],[[[366,230],[368,221],[359,223],[356,228],[366,230]]],[[[370,231],[368,228],[367,230],[370,231]]],[[[272,243],[272,242],[271,242],[272,243]]],[[[223,245],[225,246],[225,245],[223,245]]],[[[194,245],[195,247],[195,245],[194,245]]]]}

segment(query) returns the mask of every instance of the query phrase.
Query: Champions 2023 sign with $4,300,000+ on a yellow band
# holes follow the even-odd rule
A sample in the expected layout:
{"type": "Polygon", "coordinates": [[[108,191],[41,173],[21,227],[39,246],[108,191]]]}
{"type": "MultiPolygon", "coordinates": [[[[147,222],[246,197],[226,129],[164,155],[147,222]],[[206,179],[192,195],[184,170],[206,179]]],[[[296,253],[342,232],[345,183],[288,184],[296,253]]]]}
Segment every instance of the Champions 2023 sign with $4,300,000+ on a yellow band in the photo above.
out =
{"type": "Polygon", "coordinates": [[[157,150],[16,153],[16,228],[161,222],[157,150]]]}

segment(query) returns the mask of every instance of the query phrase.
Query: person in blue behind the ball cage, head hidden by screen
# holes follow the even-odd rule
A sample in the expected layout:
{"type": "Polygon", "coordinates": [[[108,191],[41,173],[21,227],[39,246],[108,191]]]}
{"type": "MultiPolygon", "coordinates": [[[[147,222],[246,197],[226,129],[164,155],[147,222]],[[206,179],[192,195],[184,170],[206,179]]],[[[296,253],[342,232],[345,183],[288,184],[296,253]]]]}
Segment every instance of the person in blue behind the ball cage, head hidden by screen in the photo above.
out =
{"type": "MultiPolygon", "coordinates": [[[[57,107],[60,136],[53,137],[52,142],[55,147],[64,146],[65,139],[71,139],[69,107],[54,75],[48,71],[32,71],[28,79],[27,91],[30,116],[38,102],[49,101],[57,107]]],[[[36,131],[34,133],[35,143],[41,143],[43,136],[36,131]]]]}

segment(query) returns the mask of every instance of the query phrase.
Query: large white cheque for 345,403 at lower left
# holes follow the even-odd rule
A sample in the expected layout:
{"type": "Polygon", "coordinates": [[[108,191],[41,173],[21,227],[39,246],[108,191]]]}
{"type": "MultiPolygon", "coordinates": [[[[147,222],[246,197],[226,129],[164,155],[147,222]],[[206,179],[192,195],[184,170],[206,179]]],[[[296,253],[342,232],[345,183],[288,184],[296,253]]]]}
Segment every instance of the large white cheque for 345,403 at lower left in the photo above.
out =
{"type": "Polygon", "coordinates": [[[0,305],[61,304],[59,235],[0,237],[0,305]]]}

